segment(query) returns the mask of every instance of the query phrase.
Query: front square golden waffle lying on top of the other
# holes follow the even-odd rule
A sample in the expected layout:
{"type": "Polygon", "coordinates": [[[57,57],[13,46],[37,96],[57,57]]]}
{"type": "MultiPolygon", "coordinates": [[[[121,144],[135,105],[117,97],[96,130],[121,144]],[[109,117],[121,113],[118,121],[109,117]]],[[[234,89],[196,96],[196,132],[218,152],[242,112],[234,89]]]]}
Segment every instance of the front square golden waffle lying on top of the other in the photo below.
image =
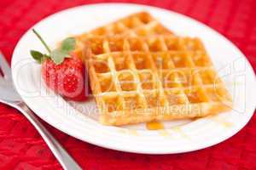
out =
{"type": "Polygon", "coordinates": [[[232,101],[198,38],[87,37],[90,85],[106,125],[194,118],[232,101]]]}

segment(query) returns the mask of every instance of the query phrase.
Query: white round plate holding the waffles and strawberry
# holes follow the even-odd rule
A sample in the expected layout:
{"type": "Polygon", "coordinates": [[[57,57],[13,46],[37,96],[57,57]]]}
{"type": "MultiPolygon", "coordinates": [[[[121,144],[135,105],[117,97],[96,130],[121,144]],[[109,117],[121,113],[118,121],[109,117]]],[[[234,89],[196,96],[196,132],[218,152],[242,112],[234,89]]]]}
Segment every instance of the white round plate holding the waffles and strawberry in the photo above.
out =
{"type": "Polygon", "coordinates": [[[141,10],[153,14],[178,35],[201,37],[219,75],[224,78],[230,94],[233,94],[233,111],[194,122],[165,122],[166,129],[158,131],[147,130],[145,124],[127,127],[102,126],[90,117],[96,113],[93,100],[82,108],[81,105],[74,104],[79,107],[75,110],[61,97],[47,92],[40,78],[40,65],[29,54],[30,49],[45,50],[31,30],[20,39],[12,60],[15,87],[22,99],[32,111],[52,126],[75,138],[113,150],[146,154],[180,153],[218,144],[237,133],[253,116],[255,76],[241,51],[207,26],[165,9],[136,4],[103,3],[69,8],[47,17],[33,27],[43,35],[46,42],[54,45],[64,37],[90,31],[141,10]],[[181,123],[183,125],[173,127],[181,123]]]}

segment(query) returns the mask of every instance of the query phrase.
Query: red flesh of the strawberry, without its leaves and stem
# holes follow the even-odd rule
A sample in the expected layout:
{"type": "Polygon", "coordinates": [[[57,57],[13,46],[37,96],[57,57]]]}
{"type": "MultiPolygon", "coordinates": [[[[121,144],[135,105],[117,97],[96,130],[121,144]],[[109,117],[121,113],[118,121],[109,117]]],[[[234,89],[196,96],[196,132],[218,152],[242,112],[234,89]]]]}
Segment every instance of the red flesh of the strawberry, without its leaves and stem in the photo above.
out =
{"type": "Polygon", "coordinates": [[[46,85],[67,99],[86,99],[84,87],[84,65],[75,55],[65,58],[60,65],[52,59],[42,64],[42,77],[46,85]]]}

